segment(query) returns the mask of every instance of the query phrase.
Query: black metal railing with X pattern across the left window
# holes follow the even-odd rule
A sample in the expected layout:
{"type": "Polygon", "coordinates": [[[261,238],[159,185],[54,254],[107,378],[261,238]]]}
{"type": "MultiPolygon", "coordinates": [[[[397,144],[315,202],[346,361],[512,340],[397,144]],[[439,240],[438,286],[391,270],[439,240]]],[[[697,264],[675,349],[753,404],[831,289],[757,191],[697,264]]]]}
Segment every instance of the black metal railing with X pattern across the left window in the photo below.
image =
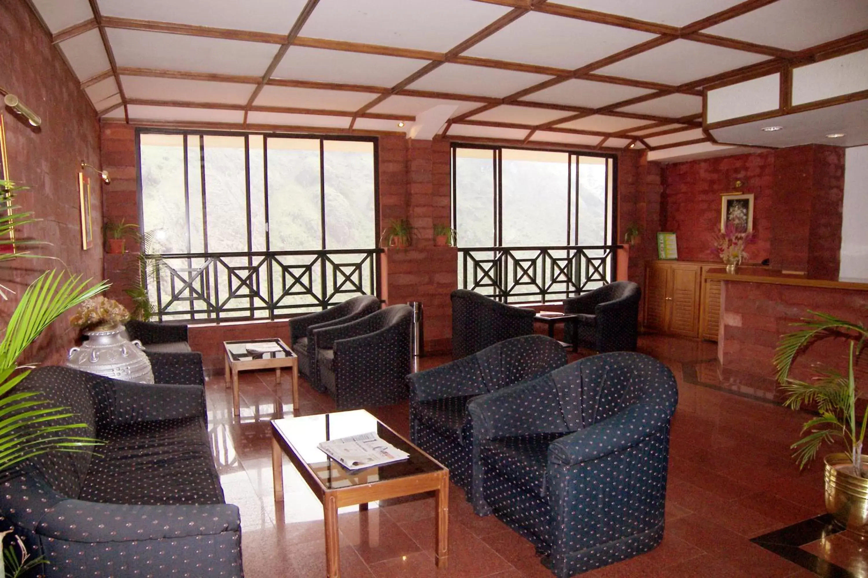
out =
{"type": "Polygon", "coordinates": [[[156,261],[148,295],[170,320],[274,319],[378,295],[381,249],[174,253],[156,261]]]}

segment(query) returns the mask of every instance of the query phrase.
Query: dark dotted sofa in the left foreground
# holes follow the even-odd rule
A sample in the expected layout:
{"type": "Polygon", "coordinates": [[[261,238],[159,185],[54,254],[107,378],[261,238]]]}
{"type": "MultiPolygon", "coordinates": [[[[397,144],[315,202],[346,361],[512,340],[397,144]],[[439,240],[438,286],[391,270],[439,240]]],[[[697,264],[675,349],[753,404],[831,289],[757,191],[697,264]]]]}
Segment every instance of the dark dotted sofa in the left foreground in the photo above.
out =
{"type": "Polygon", "coordinates": [[[16,386],[69,408],[72,435],[104,444],[49,451],[0,479],[0,526],[15,529],[48,578],[240,578],[240,516],[225,503],[201,386],[112,380],[40,367],[16,386]]]}

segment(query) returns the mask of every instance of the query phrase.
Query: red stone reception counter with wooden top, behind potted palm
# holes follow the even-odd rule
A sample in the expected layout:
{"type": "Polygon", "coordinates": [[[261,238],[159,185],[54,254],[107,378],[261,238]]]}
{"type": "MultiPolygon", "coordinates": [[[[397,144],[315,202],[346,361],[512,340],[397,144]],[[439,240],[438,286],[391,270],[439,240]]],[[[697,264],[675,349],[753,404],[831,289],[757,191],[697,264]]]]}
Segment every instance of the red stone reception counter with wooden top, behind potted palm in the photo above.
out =
{"type": "MultiPolygon", "coordinates": [[[[792,324],[810,317],[810,311],[868,322],[868,283],[809,279],[747,267],[735,273],[722,267],[709,270],[707,279],[721,282],[718,359],[727,369],[773,378],[772,359],[780,335],[794,331],[792,324]]],[[[846,350],[841,341],[813,344],[799,356],[793,376],[806,379],[810,366],[818,361],[844,371],[846,350]]],[[[858,373],[868,373],[868,362],[862,361],[858,373]]]]}

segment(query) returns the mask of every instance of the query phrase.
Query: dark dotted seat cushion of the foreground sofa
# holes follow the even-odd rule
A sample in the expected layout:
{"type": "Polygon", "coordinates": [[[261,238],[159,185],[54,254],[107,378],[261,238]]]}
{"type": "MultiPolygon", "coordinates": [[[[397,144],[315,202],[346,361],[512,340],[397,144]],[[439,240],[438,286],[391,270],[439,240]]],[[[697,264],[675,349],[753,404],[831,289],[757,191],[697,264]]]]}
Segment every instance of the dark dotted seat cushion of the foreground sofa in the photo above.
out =
{"type": "Polygon", "coordinates": [[[100,503],[224,503],[200,418],[109,425],[79,499],[100,503]]]}

